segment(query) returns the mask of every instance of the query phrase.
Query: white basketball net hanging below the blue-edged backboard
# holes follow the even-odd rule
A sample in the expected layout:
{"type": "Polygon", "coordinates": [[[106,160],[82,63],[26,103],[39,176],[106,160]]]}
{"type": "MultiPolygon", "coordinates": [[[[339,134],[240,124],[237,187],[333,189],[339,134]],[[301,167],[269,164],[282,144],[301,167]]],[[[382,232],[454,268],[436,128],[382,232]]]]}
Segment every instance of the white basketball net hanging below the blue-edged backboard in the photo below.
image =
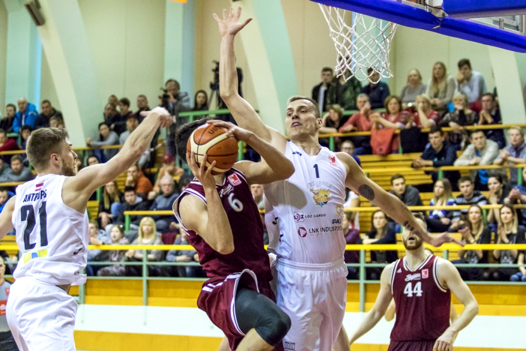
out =
{"type": "Polygon", "coordinates": [[[366,81],[373,72],[378,72],[380,78],[393,76],[389,69],[389,51],[398,24],[356,13],[354,18],[349,18],[352,22],[349,26],[345,22],[345,15],[352,14],[350,11],[319,5],[329,24],[330,37],[338,53],[336,76],[341,76],[346,71],[351,73],[346,81],[352,76],[366,81]],[[368,74],[370,67],[373,72],[368,74]]]}

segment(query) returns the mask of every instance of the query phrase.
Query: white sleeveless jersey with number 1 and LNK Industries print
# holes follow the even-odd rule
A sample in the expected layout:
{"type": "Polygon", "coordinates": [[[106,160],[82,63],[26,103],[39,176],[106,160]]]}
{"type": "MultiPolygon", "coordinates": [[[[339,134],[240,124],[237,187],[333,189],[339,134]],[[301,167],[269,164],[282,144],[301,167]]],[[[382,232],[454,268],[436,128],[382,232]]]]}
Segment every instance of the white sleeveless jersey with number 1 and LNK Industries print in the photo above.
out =
{"type": "Polygon", "coordinates": [[[278,258],[307,264],[327,264],[343,257],[341,226],[347,169],[328,148],[309,156],[287,143],[285,156],[296,172],[264,185],[269,234],[268,249],[278,258]],[[273,223],[274,222],[274,223],[273,223]],[[272,230],[276,225],[278,230],[272,230]]]}

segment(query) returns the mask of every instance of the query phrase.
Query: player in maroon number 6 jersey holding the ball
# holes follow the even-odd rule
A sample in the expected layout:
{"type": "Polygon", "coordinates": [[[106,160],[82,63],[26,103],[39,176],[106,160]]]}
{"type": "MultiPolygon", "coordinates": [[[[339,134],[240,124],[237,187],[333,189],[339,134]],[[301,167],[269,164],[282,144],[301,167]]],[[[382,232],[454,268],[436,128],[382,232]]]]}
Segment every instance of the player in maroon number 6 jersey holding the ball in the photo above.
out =
{"type": "Polygon", "coordinates": [[[184,125],[176,135],[177,152],[186,157],[195,179],[176,199],[174,213],[209,277],[197,306],[225,333],[232,350],[271,350],[275,345],[282,350],[281,339],[290,329],[290,318],[276,305],[270,288],[263,225],[250,184],[286,179],[294,173],[294,166],[254,133],[215,121],[265,161],[237,162],[226,173],[212,175],[215,161],[206,169],[206,156],[199,167],[194,153],[186,153],[188,138],[204,123],[207,121],[201,119],[184,125]]]}

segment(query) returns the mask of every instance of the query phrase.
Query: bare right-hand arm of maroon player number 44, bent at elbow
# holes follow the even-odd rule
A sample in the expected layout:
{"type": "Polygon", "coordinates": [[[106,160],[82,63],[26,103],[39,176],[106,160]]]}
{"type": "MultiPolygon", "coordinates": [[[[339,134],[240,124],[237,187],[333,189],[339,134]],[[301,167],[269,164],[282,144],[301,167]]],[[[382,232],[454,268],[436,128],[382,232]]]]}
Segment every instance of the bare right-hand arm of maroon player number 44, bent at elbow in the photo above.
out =
{"type": "Polygon", "coordinates": [[[464,305],[464,310],[460,316],[437,339],[433,347],[433,349],[438,350],[450,350],[458,332],[466,328],[479,313],[479,304],[451,262],[446,259],[438,259],[437,271],[438,278],[445,283],[444,286],[449,288],[464,305]]]}

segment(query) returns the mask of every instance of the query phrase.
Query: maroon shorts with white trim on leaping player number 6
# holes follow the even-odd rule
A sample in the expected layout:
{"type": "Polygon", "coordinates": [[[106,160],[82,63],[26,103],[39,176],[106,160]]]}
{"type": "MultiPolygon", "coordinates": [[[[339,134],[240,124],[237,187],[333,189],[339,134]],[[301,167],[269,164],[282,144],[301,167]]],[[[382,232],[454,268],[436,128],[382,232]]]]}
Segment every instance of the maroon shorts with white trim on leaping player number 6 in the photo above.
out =
{"type": "MultiPolygon", "coordinates": [[[[204,310],[211,322],[225,333],[231,350],[235,350],[245,334],[239,328],[236,317],[236,291],[239,286],[246,287],[267,296],[276,302],[276,297],[268,282],[258,282],[256,274],[250,269],[225,277],[208,279],[197,298],[197,307],[204,310]]],[[[282,344],[275,350],[283,349],[282,344]]]]}

